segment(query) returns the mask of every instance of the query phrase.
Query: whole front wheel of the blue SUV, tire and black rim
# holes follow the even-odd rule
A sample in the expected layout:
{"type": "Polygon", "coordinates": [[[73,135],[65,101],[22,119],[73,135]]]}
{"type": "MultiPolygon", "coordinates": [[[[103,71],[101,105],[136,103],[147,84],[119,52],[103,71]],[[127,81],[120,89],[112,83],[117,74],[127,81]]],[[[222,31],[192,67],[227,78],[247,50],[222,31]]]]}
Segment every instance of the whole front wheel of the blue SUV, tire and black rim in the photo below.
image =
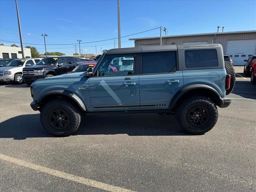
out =
{"type": "Polygon", "coordinates": [[[54,99],[42,107],[40,120],[50,134],[70,136],[80,125],[81,111],[67,100],[54,99]]]}

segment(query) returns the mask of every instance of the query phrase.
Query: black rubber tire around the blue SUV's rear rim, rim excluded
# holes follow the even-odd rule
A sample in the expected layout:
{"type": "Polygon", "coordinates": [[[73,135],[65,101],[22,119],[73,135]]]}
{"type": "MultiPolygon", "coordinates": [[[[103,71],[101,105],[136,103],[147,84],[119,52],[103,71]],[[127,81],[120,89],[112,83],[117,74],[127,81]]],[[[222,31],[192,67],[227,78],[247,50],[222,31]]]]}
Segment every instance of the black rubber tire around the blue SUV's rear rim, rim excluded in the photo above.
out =
{"type": "Polygon", "coordinates": [[[204,134],[210,131],[218,120],[218,109],[214,102],[205,96],[192,96],[184,100],[176,108],[176,120],[180,127],[190,134],[204,134]],[[192,126],[188,120],[188,113],[192,108],[204,107],[208,110],[208,121],[201,126],[192,126]]]}

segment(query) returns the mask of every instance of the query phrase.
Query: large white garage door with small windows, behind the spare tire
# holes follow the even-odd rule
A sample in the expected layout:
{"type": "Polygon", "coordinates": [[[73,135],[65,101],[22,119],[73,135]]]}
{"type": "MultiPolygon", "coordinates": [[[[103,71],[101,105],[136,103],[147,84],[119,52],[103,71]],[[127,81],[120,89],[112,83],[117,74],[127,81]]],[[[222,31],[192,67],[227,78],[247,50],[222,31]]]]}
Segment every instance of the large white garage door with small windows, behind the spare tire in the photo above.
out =
{"type": "Polygon", "coordinates": [[[228,40],[226,53],[232,57],[234,65],[244,65],[249,55],[256,54],[256,39],[228,40]]]}

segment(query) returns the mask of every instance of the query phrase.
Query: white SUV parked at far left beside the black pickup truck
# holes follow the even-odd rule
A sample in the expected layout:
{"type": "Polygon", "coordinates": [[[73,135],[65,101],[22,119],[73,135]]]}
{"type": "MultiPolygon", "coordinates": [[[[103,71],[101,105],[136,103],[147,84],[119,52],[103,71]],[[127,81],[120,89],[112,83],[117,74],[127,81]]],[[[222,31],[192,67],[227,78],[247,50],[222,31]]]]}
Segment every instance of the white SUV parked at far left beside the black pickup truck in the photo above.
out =
{"type": "Polygon", "coordinates": [[[5,67],[0,68],[0,81],[22,84],[22,69],[25,66],[34,66],[37,60],[41,60],[41,58],[24,58],[12,60],[5,67]]]}

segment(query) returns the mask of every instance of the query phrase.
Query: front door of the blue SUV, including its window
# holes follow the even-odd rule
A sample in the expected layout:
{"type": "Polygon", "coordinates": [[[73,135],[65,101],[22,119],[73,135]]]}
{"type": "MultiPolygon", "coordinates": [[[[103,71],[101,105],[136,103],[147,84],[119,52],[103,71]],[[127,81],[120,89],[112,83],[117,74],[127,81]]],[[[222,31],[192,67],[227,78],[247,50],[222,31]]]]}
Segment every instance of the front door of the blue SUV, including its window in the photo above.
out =
{"type": "Polygon", "coordinates": [[[139,75],[135,74],[134,54],[106,55],[89,89],[94,110],[136,110],[140,108],[139,75]],[[112,66],[118,60],[118,69],[112,66]]]}

